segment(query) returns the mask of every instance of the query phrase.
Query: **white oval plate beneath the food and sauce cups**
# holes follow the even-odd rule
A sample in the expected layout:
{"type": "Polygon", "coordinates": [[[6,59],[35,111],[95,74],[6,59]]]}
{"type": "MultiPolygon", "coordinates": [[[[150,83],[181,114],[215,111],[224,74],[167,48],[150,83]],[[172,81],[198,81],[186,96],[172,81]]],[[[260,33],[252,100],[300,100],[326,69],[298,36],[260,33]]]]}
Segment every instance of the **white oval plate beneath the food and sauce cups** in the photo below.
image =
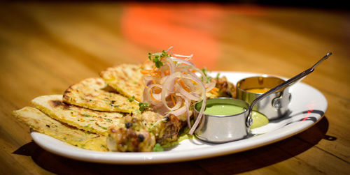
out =
{"type": "MultiPolygon", "coordinates": [[[[211,73],[211,75],[215,77],[216,73],[211,73]]],[[[230,82],[237,83],[239,79],[259,74],[221,72],[221,75],[228,77],[230,82]]],[[[198,139],[186,139],[169,151],[118,153],[80,149],[38,132],[31,132],[31,137],[33,137],[36,144],[47,151],[66,158],[87,162],[155,164],[211,158],[278,142],[310,128],[322,118],[328,104],[320,91],[307,84],[297,83],[290,87],[290,93],[292,94],[289,106],[291,113],[288,116],[251,130],[253,134],[256,134],[254,137],[225,144],[209,144],[198,139]]]]}

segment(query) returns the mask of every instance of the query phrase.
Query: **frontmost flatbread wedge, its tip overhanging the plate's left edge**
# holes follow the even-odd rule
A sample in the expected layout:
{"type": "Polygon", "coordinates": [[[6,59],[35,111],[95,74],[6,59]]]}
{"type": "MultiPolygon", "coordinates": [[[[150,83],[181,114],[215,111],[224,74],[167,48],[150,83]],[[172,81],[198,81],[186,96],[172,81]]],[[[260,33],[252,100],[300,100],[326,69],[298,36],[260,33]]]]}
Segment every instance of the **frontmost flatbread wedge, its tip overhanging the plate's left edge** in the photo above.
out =
{"type": "Polygon", "coordinates": [[[23,123],[29,125],[33,130],[68,144],[93,151],[107,151],[106,136],[83,132],[76,128],[66,126],[51,119],[34,107],[24,107],[14,111],[13,115],[23,123]]]}

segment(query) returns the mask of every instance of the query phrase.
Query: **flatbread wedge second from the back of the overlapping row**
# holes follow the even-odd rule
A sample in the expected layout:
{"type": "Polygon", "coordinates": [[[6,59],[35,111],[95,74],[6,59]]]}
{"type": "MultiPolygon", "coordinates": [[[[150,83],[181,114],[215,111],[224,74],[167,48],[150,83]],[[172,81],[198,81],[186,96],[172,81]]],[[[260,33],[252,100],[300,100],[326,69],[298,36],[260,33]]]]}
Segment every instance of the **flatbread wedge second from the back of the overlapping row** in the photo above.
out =
{"type": "Polygon", "coordinates": [[[101,78],[84,79],[66,89],[63,102],[97,111],[131,113],[139,109],[134,100],[130,102],[125,96],[106,91],[107,88],[101,78]]]}

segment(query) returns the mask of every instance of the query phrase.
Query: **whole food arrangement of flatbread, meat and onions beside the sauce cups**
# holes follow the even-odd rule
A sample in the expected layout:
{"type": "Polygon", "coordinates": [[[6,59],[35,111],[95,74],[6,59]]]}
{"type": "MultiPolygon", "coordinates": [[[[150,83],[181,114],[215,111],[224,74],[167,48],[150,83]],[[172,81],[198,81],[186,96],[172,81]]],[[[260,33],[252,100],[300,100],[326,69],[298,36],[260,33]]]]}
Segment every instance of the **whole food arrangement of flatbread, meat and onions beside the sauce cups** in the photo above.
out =
{"type": "MultiPolygon", "coordinates": [[[[13,112],[33,130],[94,151],[162,151],[178,144],[179,133],[200,128],[193,104],[235,96],[225,77],[209,77],[191,56],[170,50],[148,54],[143,65],[107,68],[101,78],[83,79],[62,95],[40,96],[33,107],[13,112]],[[187,128],[186,128],[187,125],[187,128]]],[[[181,138],[190,135],[182,134],[181,138]]]]}

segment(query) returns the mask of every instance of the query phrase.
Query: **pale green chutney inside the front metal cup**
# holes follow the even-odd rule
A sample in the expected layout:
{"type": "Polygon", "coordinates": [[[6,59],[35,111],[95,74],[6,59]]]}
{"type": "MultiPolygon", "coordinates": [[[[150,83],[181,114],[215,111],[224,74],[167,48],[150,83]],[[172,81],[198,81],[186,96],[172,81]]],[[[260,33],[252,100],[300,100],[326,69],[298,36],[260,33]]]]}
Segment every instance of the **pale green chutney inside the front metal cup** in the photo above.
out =
{"type": "Polygon", "coordinates": [[[245,111],[246,109],[236,105],[214,103],[214,104],[207,105],[203,113],[208,115],[216,115],[216,116],[230,116],[230,115],[239,114],[245,111]]]}

